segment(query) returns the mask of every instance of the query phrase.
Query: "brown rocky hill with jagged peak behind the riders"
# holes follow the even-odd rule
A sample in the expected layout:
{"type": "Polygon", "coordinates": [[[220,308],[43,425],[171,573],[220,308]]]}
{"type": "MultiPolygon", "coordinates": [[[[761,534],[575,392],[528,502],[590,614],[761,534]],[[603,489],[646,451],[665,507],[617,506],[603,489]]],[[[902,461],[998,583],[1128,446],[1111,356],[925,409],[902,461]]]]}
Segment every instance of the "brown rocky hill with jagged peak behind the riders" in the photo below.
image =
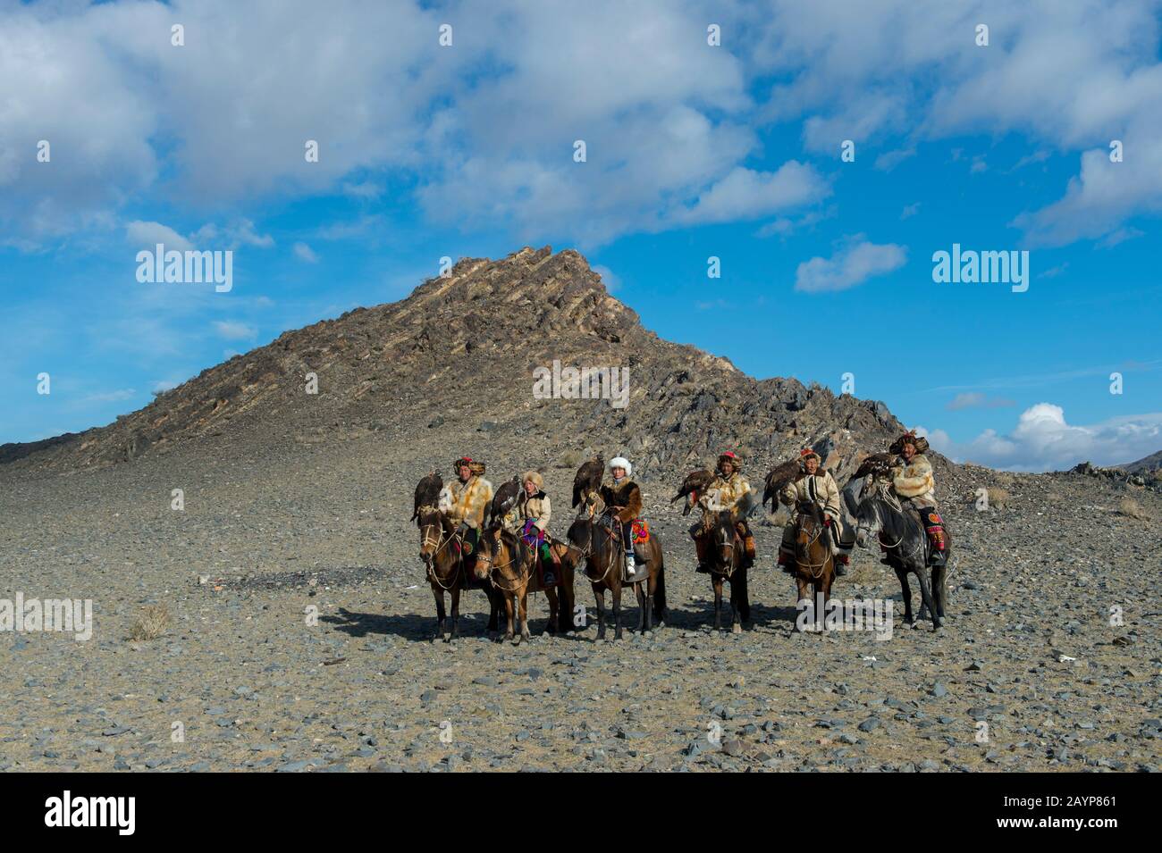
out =
{"type": "Polygon", "coordinates": [[[508,434],[535,439],[562,465],[589,447],[617,449],[644,476],[668,477],[664,469],[725,447],[754,471],[804,444],[837,451],[844,474],[901,428],[882,403],[790,378],[756,381],[726,359],[658,338],[582,255],[545,247],[461,260],[401,302],[286,332],[109,426],[6,444],[0,463],[71,470],[199,442],[293,446],[371,433],[487,448],[508,434]],[[554,361],[627,368],[626,405],[538,399],[533,370],[554,361]],[[317,393],[307,391],[309,374],[317,393]]]}

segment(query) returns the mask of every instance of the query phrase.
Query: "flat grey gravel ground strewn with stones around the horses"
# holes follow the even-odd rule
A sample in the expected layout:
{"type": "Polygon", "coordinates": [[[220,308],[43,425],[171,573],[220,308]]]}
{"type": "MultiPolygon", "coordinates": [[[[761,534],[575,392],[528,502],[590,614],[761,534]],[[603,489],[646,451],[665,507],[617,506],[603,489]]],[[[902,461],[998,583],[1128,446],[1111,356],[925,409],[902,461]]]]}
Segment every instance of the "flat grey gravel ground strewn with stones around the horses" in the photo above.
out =
{"type": "MultiPolygon", "coordinates": [[[[794,631],[769,522],[752,623],[712,632],[688,520],[666,503],[674,483],[646,483],[665,628],[552,637],[538,595],[533,639],[514,646],[485,636],[472,592],[446,644],[430,642],[407,521],[423,471],[385,467],[382,451],[365,438],[0,472],[0,598],[92,599],[94,613],[87,642],[0,634],[0,769],[1159,768],[1157,493],[1041,475],[1007,477],[1004,509],[946,498],[956,555],[940,631],[902,623],[877,556],[858,552],[837,584],[840,598],[895,599],[895,630],[876,639],[794,631]],[[1127,494],[1149,518],[1118,513],[1127,494]],[[129,639],[149,605],[167,609],[165,632],[129,639]]],[[[547,480],[565,503],[572,471],[547,480]]],[[[588,584],[576,600],[591,606],[588,584]]],[[[625,605],[633,624],[632,594],[625,605]]]]}

